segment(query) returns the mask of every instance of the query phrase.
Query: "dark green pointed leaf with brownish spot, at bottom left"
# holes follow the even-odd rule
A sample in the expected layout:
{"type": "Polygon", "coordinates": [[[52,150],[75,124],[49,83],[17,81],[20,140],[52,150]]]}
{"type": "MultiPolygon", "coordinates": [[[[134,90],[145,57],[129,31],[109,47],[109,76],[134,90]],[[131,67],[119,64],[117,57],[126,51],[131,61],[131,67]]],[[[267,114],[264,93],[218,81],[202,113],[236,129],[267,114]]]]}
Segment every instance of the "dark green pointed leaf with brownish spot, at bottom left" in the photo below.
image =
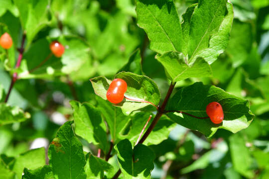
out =
{"type": "Polygon", "coordinates": [[[86,179],[86,160],[72,123],[65,122],[49,145],[49,164],[56,179],[86,179]]]}

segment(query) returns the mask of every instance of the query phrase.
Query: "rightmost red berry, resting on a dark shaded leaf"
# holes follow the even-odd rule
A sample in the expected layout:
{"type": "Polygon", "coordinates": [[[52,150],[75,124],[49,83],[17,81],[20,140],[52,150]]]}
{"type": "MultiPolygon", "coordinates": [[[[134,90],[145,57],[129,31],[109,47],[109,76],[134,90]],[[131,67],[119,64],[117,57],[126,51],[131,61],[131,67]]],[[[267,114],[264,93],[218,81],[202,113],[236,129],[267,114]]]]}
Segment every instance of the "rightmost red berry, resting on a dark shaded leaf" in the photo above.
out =
{"type": "Polygon", "coordinates": [[[215,124],[219,124],[223,121],[224,116],[222,106],[218,102],[210,102],[206,106],[206,113],[215,124]]]}

